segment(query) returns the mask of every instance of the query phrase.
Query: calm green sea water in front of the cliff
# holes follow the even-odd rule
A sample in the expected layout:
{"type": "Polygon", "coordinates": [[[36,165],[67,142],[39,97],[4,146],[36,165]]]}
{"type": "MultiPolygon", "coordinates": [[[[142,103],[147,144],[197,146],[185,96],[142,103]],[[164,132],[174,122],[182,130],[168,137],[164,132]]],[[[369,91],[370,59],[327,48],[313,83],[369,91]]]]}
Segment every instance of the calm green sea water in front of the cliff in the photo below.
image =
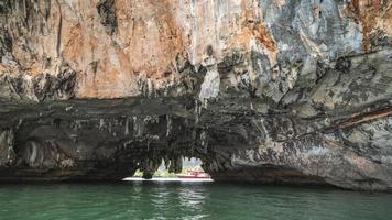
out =
{"type": "Polygon", "coordinates": [[[0,185],[0,219],[392,220],[392,195],[218,183],[0,185]]]}

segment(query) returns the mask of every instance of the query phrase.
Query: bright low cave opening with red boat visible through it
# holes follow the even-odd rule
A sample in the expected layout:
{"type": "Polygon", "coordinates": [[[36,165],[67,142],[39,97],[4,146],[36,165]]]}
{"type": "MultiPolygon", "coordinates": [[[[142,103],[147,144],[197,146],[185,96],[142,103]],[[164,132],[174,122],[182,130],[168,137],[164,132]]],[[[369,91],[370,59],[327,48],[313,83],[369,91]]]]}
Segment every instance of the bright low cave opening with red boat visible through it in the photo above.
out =
{"type": "Polygon", "coordinates": [[[162,160],[159,167],[153,168],[153,172],[151,168],[139,168],[133,177],[157,180],[209,179],[209,175],[204,172],[202,164],[202,160],[196,157],[181,157],[176,162],[162,160]]]}

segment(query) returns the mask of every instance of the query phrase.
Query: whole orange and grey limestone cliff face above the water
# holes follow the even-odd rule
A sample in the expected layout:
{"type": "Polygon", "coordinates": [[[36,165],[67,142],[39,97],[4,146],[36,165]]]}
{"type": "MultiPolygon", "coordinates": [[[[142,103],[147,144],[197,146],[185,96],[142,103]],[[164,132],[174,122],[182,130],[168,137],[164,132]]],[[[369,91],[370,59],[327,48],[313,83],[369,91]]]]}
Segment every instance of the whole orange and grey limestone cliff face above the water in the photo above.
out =
{"type": "Polygon", "coordinates": [[[389,0],[2,0],[0,180],[392,189],[389,0]]]}

